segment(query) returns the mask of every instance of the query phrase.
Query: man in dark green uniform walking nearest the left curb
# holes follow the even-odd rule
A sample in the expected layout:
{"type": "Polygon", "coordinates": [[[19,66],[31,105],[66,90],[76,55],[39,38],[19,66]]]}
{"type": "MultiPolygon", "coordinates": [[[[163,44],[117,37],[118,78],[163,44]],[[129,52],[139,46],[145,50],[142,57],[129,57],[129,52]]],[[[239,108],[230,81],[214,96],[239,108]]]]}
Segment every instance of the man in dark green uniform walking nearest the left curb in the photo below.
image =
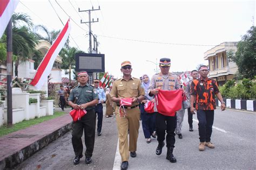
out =
{"type": "Polygon", "coordinates": [[[79,121],[72,122],[72,145],[75,152],[75,159],[73,164],[79,164],[80,158],[83,157],[83,143],[82,136],[84,131],[85,139],[85,163],[91,163],[93,147],[95,143],[95,126],[96,114],[95,105],[99,102],[97,90],[87,83],[87,72],[79,72],[77,75],[79,85],[71,90],[69,96],[69,105],[73,109],[85,109],[87,114],[84,115],[79,121]],[[74,100],[77,100],[74,103],[74,100]]]}

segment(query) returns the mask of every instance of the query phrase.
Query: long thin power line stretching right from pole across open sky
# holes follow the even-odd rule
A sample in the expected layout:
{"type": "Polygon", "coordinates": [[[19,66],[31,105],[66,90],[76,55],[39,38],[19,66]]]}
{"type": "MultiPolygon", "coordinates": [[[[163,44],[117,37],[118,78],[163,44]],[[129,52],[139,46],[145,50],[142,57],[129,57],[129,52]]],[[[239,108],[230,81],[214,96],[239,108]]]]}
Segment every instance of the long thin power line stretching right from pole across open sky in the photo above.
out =
{"type": "MultiPolygon", "coordinates": [[[[99,35],[100,37],[105,38],[112,38],[112,39],[120,39],[120,40],[127,40],[127,41],[136,41],[136,42],[147,42],[147,43],[154,43],[154,44],[166,44],[166,45],[183,45],[183,46],[216,46],[216,45],[204,45],[204,44],[178,44],[178,43],[171,43],[171,42],[158,42],[158,41],[146,41],[146,40],[136,40],[136,39],[127,39],[127,38],[118,38],[118,37],[111,37],[111,36],[103,36],[99,35]]],[[[219,45],[225,47],[235,47],[233,45],[219,45]]]]}

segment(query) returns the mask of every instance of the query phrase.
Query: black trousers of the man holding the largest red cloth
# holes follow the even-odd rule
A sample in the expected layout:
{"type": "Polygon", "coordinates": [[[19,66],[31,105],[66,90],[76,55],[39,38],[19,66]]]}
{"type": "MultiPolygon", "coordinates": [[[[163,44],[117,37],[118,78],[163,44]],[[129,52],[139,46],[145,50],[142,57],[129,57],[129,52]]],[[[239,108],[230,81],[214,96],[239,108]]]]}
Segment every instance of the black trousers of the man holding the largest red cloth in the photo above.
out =
{"type": "Polygon", "coordinates": [[[161,144],[165,139],[166,135],[166,147],[174,147],[175,144],[175,129],[177,125],[177,117],[165,116],[157,112],[156,126],[157,126],[157,140],[161,144]]]}

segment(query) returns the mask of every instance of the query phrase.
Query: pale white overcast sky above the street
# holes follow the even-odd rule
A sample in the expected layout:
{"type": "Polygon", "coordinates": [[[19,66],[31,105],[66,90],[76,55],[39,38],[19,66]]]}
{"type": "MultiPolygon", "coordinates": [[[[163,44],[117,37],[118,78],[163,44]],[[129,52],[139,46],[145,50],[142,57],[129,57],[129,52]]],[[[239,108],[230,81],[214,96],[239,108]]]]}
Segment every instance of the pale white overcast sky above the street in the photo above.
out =
{"type": "MultiPolygon", "coordinates": [[[[204,52],[225,41],[239,41],[255,23],[255,1],[107,1],[50,0],[65,24],[71,17],[70,45],[89,49],[88,13],[92,8],[93,34],[105,54],[105,71],[120,77],[120,63],[132,63],[132,75],[153,75],[156,60],[171,58],[171,72],[192,70],[204,60],[204,52]],[[253,19],[254,17],[254,19],[253,19]],[[75,22],[74,22],[75,21],[75,22]],[[129,39],[129,40],[128,40],[129,39]],[[75,42],[76,44],[75,44],[75,42]],[[183,44],[183,45],[181,45],[183,44]],[[205,46],[208,45],[208,46],[205,46]],[[149,62],[149,61],[152,62],[149,62]]],[[[16,12],[28,13],[35,25],[63,29],[49,1],[21,0],[16,12]]]]}

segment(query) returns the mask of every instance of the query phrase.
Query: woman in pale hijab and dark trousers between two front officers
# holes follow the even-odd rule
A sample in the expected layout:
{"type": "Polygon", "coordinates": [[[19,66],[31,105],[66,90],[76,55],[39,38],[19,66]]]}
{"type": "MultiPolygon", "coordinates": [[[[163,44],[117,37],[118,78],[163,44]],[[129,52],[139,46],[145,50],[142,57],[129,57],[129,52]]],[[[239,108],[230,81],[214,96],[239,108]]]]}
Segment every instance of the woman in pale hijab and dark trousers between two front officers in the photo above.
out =
{"type": "Polygon", "coordinates": [[[149,144],[151,142],[151,136],[153,138],[156,138],[156,113],[153,112],[151,114],[147,113],[144,109],[144,104],[147,102],[147,100],[151,101],[153,97],[150,97],[147,93],[147,90],[149,89],[150,79],[149,76],[144,74],[142,76],[142,86],[145,90],[145,100],[142,101],[142,104],[140,105],[140,115],[142,117],[142,128],[144,132],[144,136],[147,139],[147,143],[149,144]]]}

